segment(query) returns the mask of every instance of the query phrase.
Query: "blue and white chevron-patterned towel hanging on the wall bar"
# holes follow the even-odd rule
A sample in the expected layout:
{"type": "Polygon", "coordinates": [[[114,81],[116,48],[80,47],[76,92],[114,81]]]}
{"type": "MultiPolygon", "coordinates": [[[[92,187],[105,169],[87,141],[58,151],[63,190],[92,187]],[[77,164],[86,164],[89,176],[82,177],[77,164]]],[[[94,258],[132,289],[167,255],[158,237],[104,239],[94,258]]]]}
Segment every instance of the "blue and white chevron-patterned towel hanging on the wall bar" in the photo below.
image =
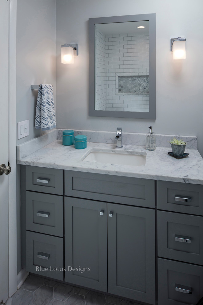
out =
{"type": "Polygon", "coordinates": [[[50,84],[41,84],[39,86],[35,128],[42,128],[42,130],[56,128],[53,88],[50,84]]]}

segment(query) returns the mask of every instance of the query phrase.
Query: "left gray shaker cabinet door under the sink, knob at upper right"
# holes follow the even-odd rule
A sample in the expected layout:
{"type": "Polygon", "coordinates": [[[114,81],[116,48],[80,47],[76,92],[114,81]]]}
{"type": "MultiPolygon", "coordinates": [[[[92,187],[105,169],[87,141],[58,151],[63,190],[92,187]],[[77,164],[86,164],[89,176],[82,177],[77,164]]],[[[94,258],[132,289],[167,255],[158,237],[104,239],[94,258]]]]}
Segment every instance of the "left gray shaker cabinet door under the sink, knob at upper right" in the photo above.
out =
{"type": "Polygon", "coordinates": [[[106,202],[65,197],[65,281],[107,292],[106,202]]]}

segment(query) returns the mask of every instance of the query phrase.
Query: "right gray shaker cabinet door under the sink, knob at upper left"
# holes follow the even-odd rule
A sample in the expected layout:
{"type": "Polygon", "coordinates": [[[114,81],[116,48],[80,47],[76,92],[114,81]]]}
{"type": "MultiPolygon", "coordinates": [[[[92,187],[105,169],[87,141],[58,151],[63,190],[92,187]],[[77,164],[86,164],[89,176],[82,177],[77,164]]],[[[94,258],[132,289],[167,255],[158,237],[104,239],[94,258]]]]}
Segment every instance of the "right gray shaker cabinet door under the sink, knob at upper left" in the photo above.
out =
{"type": "Polygon", "coordinates": [[[107,204],[108,292],[155,304],[155,211],[107,204]]]}

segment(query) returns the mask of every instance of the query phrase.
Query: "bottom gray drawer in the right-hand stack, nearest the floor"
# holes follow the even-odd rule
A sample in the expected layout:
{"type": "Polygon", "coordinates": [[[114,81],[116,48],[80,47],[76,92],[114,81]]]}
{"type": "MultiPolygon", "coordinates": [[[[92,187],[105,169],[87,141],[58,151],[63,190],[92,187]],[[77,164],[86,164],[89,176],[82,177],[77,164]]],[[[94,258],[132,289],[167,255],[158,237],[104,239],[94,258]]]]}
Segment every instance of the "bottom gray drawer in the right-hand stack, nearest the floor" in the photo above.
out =
{"type": "Polygon", "coordinates": [[[203,267],[158,258],[158,304],[195,305],[203,296],[203,267]]]}

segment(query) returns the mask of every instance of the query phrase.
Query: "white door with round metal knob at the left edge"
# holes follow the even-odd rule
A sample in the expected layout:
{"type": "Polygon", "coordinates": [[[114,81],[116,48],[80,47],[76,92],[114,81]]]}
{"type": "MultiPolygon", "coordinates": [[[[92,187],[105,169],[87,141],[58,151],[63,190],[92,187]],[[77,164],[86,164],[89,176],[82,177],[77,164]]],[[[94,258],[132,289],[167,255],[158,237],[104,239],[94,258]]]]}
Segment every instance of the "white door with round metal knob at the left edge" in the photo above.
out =
{"type": "MultiPolygon", "coordinates": [[[[0,1],[0,164],[8,165],[9,1],[0,1]]],[[[8,298],[8,175],[0,175],[0,302],[8,298]]]]}

